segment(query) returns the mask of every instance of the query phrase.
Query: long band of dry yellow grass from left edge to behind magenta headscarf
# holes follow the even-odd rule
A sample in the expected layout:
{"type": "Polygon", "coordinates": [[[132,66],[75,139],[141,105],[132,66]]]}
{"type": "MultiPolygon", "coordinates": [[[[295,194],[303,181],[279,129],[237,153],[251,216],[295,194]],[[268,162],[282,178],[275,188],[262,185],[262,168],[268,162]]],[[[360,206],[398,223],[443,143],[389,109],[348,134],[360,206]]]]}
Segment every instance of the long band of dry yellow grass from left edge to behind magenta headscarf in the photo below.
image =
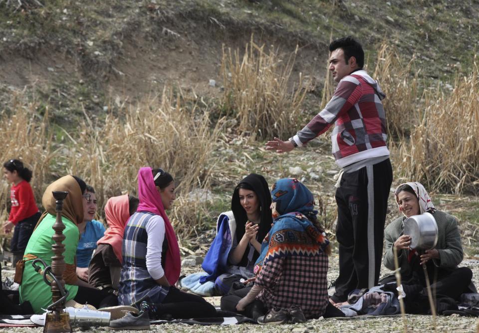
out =
{"type": "MultiPolygon", "coordinates": [[[[64,131],[67,139],[61,143],[59,138],[53,142],[47,115],[35,116],[35,105],[22,100],[13,106],[11,115],[2,114],[0,130],[7,140],[0,157],[2,161],[20,158],[32,167],[37,201],[57,175],[78,175],[95,187],[102,216],[109,197],[125,192],[136,195],[140,167],[162,167],[177,182],[177,200],[169,214],[179,240],[196,236],[207,215],[208,198],[201,193],[209,190],[214,166],[210,157],[222,120],[212,125],[209,113],[198,112],[195,101],[165,88],[136,107],[109,114],[101,124],[85,113],[78,131],[64,131]],[[200,195],[190,195],[192,190],[200,195]]],[[[9,184],[3,181],[2,186],[4,215],[9,184]]]]}

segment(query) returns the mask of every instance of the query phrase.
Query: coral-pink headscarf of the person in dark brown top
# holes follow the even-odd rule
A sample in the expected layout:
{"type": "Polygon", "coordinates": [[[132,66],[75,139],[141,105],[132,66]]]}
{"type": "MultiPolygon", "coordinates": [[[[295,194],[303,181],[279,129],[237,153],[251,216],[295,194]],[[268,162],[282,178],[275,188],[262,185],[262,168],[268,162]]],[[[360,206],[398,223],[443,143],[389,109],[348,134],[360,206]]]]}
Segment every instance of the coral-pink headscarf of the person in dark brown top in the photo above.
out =
{"type": "Polygon", "coordinates": [[[109,244],[113,248],[118,260],[123,262],[121,255],[121,246],[123,242],[123,233],[125,225],[130,218],[130,205],[128,201],[128,194],[114,196],[109,198],[105,205],[106,223],[108,229],[105,235],[96,242],[100,244],[109,244]]]}

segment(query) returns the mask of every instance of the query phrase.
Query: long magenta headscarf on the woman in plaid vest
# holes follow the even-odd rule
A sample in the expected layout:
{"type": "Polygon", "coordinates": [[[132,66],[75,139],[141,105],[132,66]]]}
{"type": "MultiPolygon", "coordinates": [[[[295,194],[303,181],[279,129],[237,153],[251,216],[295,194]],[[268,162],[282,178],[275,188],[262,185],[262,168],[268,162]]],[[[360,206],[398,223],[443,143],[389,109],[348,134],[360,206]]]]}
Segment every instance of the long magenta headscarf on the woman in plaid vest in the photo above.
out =
{"type": "Polygon", "coordinates": [[[171,285],[174,285],[180,277],[181,260],[180,247],[176,239],[175,230],[171,226],[161,201],[160,193],[155,186],[151,167],[142,167],[138,171],[138,198],[140,204],[136,211],[149,211],[163,217],[165,221],[165,233],[168,241],[168,252],[165,256],[165,276],[171,285]]]}

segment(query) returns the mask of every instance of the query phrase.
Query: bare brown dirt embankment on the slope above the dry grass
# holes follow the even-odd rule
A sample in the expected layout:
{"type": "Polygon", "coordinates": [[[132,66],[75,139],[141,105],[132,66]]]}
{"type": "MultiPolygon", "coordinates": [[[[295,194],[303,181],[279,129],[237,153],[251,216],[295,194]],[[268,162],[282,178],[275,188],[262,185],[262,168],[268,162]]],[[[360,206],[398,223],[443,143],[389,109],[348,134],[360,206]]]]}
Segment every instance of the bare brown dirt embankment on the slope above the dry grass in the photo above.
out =
{"type": "Polygon", "coordinates": [[[2,52],[3,93],[39,90],[58,109],[74,113],[79,101],[93,114],[110,100],[134,101],[165,85],[216,96],[221,91],[222,48],[242,53],[251,35],[265,49],[273,45],[285,61],[299,46],[293,81],[300,72],[312,76],[313,84],[323,80],[326,44],[307,34],[274,24],[219,19],[198,8],[167,15],[156,7],[140,11],[144,13],[117,24],[101,42],[88,35],[76,44],[69,44],[68,38],[58,42],[57,32],[49,35],[50,40],[44,37],[2,52]],[[216,81],[215,87],[209,85],[210,79],[216,81]]]}

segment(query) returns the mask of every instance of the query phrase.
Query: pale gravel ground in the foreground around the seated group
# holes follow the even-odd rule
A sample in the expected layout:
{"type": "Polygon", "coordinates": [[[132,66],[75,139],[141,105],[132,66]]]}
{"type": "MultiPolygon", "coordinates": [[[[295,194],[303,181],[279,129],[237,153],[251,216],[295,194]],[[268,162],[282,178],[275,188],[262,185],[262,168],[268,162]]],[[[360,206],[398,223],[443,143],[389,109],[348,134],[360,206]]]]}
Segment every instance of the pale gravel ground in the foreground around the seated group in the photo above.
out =
{"type": "MultiPolygon", "coordinates": [[[[334,280],[338,275],[338,255],[333,253],[329,261],[328,281],[334,280]]],[[[479,259],[465,259],[461,266],[467,266],[473,271],[473,280],[476,286],[479,286],[479,259]]],[[[6,267],[5,267],[6,268],[6,267]]],[[[3,278],[12,277],[11,268],[2,269],[3,278]]],[[[182,270],[182,274],[190,274],[201,270],[200,266],[188,267],[182,270]]],[[[387,269],[383,267],[381,274],[386,274],[387,269]]],[[[219,298],[211,298],[211,303],[217,305],[219,298]]],[[[408,332],[434,332],[434,320],[432,316],[414,316],[407,315],[408,332]]],[[[460,316],[439,316],[436,320],[437,332],[479,332],[478,318],[467,318],[460,316]]],[[[0,332],[42,332],[43,328],[8,328],[1,329],[0,332]]],[[[233,326],[200,326],[184,324],[164,324],[151,327],[155,332],[401,332],[403,331],[403,321],[401,317],[375,317],[375,318],[356,318],[356,319],[319,319],[310,320],[304,324],[281,325],[281,326],[259,326],[252,324],[242,324],[233,326]],[[358,329],[359,328],[359,329],[358,329]]],[[[75,329],[75,331],[80,331],[75,329]]],[[[109,331],[107,328],[91,329],[91,332],[109,331]]],[[[116,332],[136,332],[136,331],[116,331],[116,332]]]]}

